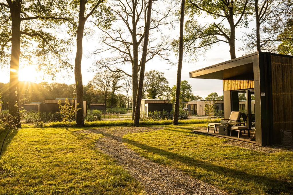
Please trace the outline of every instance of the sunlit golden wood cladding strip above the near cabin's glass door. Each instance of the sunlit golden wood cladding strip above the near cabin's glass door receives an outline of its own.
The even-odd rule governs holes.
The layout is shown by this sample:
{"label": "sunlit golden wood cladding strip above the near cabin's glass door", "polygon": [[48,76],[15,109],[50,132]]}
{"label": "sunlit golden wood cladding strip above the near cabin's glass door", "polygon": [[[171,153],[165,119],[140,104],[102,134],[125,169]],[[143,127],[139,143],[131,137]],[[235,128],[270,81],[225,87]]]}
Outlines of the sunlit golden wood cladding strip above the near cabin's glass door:
{"label": "sunlit golden wood cladding strip above the near cabin's glass door", "polygon": [[252,80],[223,80],[223,91],[254,88]]}

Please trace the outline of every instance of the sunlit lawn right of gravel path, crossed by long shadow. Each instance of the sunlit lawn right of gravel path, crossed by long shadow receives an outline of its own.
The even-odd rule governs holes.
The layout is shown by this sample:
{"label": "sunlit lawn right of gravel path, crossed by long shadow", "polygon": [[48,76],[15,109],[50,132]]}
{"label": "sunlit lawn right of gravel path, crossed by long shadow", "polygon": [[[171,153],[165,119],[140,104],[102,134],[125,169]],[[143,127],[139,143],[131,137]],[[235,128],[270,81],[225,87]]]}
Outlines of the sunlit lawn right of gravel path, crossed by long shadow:
{"label": "sunlit lawn right of gravel path, crossed by long shadow", "polygon": [[[266,153],[225,144],[191,132],[189,124],[127,134],[127,146],[231,194],[293,194],[293,152]],[[204,124],[205,126],[205,124]]]}

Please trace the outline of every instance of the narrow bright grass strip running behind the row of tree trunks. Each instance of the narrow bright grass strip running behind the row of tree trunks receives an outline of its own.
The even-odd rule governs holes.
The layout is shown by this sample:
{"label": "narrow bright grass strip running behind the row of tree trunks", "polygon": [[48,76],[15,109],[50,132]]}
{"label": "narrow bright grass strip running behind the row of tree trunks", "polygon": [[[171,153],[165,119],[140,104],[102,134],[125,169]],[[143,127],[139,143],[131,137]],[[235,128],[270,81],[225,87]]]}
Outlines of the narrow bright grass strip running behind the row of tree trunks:
{"label": "narrow bright grass strip running behind the row of tree trunks", "polygon": [[[219,122],[219,119],[214,119],[211,122]],[[179,120],[178,123],[180,125],[183,124],[202,124],[207,123],[207,120],[202,119],[189,119],[189,120]],[[75,126],[75,122],[71,123],[72,126]],[[84,122],[86,127],[109,127],[109,126],[132,126],[133,120],[100,120],[100,121],[93,121],[93,122]],[[149,125],[171,125],[172,120],[145,120],[140,121],[140,125],[142,126],[149,126]],[[22,124],[22,128],[32,128],[33,125]],[[46,123],[45,127],[64,127],[62,122],[50,122]]]}

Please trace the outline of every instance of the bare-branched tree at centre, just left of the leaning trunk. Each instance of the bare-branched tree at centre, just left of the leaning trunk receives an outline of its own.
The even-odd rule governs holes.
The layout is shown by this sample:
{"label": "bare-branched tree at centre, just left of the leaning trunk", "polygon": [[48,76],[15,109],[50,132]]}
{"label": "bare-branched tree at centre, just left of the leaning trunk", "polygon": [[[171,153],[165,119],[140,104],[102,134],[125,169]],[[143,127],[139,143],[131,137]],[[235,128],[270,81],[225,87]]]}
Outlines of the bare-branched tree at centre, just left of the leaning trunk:
{"label": "bare-branched tree at centre, just left of the leaning trunk", "polygon": [[[172,1],[170,1],[172,2]],[[114,0],[111,6],[111,12],[115,16],[115,26],[109,30],[102,30],[102,43],[105,48],[97,49],[94,54],[103,52],[111,52],[113,57],[105,58],[97,61],[97,68],[107,67],[114,72],[123,73],[132,77],[132,101],[136,103],[138,75],[141,67],[139,56],[142,55],[142,44],[145,35],[146,15],[147,15],[147,0]],[[154,15],[151,20],[150,30],[161,32],[161,38],[158,34],[150,34],[149,46],[147,49],[146,62],[151,61],[158,56],[159,58],[172,63],[169,58],[170,40],[164,36],[161,27],[172,28],[176,18],[173,14],[173,5],[168,1],[157,1],[154,6]],[[164,6],[165,9],[161,9]],[[167,37],[167,38],[166,38]],[[131,65],[131,73],[127,73],[124,69],[127,65]],[[134,117],[134,108],[132,107],[132,118]]]}

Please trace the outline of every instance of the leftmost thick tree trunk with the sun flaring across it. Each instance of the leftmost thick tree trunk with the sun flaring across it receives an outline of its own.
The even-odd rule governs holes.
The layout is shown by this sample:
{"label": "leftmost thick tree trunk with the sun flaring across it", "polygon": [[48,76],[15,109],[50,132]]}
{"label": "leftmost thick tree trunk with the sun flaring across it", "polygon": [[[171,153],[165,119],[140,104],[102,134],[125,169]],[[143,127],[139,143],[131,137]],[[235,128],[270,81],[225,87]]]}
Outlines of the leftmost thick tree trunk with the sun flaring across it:
{"label": "leftmost thick tree trunk with the sun flaring across it", "polygon": [[11,13],[11,60],[10,60],[10,78],[9,78],[9,114],[13,118],[16,127],[21,127],[19,114],[19,56],[21,44],[21,2],[13,1],[9,4]]}

